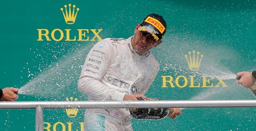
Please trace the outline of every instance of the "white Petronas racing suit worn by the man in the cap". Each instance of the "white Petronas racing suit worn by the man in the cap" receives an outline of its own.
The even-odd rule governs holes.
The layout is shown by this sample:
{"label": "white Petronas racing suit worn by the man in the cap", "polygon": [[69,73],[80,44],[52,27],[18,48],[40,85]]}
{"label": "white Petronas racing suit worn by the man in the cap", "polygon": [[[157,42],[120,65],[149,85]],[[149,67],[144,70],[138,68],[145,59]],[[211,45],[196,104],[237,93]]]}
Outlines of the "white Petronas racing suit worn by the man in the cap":
{"label": "white Petronas racing suit worn by the man in the cap", "polygon": [[[78,81],[88,101],[123,101],[125,94],[145,94],[156,78],[155,57],[138,55],[128,39],[107,38],[88,53]],[[128,108],[86,109],[84,129],[129,131],[132,116]]]}

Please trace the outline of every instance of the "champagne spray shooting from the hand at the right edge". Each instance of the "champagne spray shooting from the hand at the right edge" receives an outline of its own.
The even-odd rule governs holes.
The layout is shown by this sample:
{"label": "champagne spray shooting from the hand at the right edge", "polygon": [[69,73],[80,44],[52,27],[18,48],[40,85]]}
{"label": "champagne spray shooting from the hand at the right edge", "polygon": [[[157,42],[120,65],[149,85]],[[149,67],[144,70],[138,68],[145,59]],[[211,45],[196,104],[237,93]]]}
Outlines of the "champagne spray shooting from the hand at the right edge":
{"label": "champagne spray shooting from the hand at the right edge", "polygon": [[[182,34],[171,34],[170,37],[165,37],[170,41],[167,44],[160,44],[159,47],[161,49],[157,52],[157,54],[161,54],[158,59],[163,65],[161,69],[164,72],[163,75],[174,77],[180,75],[195,76],[197,78],[207,76],[208,78],[212,77],[213,80],[223,79],[228,86],[200,88],[200,92],[196,94],[191,95],[188,93],[188,95],[191,95],[189,99],[192,100],[255,99],[248,89],[244,89],[236,83],[234,71],[237,69],[232,67],[237,67],[233,65],[240,65],[239,60],[243,59],[237,54],[237,51],[221,41],[199,37],[199,35],[189,36]],[[189,70],[188,62],[185,58],[185,55],[188,55],[188,52],[193,50],[200,52],[200,55],[204,55],[198,71]],[[163,52],[166,53],[163,54]],[[161,59],[161,57],[167,59]],[[195,83],[201,81],[199,80]],[[178,95],[175,99],[183,99],[183,96]]]}

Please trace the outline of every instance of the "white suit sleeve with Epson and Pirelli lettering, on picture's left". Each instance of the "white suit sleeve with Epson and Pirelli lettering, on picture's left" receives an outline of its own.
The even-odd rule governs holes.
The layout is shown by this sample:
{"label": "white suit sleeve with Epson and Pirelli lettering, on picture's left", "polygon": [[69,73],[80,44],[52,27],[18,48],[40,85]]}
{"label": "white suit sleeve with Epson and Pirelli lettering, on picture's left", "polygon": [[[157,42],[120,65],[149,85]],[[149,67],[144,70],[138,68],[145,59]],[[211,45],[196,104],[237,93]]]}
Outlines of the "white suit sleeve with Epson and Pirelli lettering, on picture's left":
{"label": "white suit sleeve with Epson and Pirelli lettering, on picture's left", "polygon": [[88,53],[78,80],[78,90],[92,100],[123,101],[125,93],[101,82],[113,59],[113,48],[107,40],[101,40]]}

